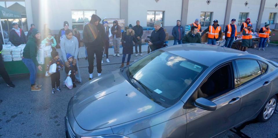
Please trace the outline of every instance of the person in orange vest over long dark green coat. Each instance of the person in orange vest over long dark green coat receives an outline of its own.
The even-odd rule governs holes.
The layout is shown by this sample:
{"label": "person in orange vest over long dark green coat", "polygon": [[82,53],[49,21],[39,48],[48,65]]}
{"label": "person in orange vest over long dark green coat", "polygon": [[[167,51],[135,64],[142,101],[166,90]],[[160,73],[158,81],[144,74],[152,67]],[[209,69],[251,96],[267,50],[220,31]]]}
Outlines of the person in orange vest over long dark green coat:
{"label": "person in orange vest over long dark green coat", "polygon": [[251,24],[248,24],[247,27],[245,27],[242,30],[242,44],[241,44],[241,48],[240,48],[241,51],[246,51],[247,47],[251,47],[252,32],[254,33],[254,30],[253,30]]}

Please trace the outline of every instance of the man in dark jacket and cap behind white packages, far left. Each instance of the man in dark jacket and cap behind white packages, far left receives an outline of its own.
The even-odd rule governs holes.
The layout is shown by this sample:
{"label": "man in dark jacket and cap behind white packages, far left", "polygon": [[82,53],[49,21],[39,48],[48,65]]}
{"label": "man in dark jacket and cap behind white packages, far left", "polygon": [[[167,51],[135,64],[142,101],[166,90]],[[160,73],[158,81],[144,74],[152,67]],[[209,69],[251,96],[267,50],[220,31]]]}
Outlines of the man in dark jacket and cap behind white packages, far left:
{"label": "man in dark jacket and cap behind white packages, far left", "polygon": [[27,43],[25,34],[23,30],[18,27],[17,23],[12,23],[12,31],[10,32],[9,41],[16,47]]}

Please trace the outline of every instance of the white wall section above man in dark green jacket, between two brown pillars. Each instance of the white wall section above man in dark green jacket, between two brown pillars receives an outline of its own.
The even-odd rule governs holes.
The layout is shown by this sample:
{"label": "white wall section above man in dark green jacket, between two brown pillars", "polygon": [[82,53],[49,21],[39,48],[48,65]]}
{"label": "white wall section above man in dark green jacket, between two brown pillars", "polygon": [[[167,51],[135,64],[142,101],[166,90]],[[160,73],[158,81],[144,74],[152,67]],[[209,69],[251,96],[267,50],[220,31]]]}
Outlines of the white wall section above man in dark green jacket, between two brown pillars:
{"label": "white wall section above man in dark green jacket, between two brown pillars", "polygon": [[223,25],[226,12],[226,0],[213,0],[208,5],[206,0],[189,0],[187,23],[191,24],[195,19],[200,19],[201,12],[213,12],[211,22],[218,20]]}

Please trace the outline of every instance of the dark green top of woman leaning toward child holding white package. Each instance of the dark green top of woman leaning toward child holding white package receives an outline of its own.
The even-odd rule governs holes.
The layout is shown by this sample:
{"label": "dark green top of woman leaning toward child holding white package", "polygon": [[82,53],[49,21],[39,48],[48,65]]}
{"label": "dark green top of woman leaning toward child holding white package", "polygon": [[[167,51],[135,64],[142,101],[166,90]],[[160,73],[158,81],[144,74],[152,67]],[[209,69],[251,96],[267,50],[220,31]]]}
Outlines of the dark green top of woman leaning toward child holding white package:
{"label": "dark green top of woman leaning toward child holding white package", "polygon": [[37,53],[38,53],[38,46],[36,44],[36,38],[34,38],[33,36],[29,36],[28,42],[25,48],[23,49],[23,57],[32,59],[34,64],[36,66],[39,66],[39,63],[36,59]]}

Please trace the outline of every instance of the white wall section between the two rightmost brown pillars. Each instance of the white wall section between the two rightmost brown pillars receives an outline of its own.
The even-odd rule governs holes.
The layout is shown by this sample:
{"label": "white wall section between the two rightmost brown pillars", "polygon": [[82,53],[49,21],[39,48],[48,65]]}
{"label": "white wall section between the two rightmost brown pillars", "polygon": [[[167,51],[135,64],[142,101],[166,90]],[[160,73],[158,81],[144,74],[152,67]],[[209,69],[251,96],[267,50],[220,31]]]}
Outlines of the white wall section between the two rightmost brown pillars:
{"label": "white wall section between the two rightmost brown pillars", "polygon": [[[243,0],[233,0],[232,1],[232,8],[231,8],[231,19],[236,19],[238,21],[239,19],[239,13],[240,12],[248,12],[251,23],[253,24],[253,27],[256,27],[258,16],[259,16],[259,9],[261,5],[261,0],[247,0],[248,5],[245,6],[244,3],[246,1]],[[230,19],[230,21],[231,21]],[[237,24],[238,22],[236,22]],[[240,25],[241,26],[241,25]],[[237,30],[240,30],[240,26],[237,26]]]}

